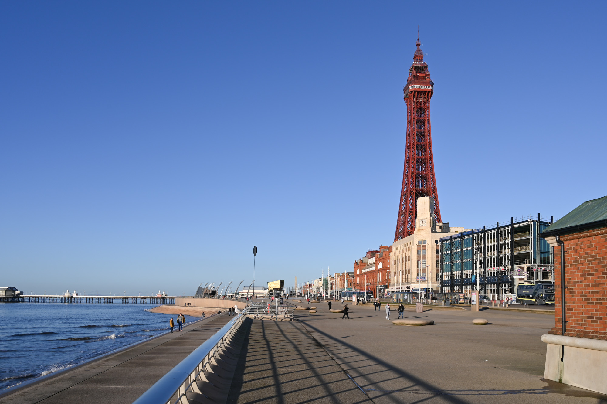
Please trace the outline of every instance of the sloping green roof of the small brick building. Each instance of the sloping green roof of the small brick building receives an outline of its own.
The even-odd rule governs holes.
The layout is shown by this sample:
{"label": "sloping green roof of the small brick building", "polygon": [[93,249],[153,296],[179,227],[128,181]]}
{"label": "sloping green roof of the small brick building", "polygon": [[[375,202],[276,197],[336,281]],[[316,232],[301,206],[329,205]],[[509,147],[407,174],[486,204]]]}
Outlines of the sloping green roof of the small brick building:
{"label": "sloping green roof of the small brick building", "polygon": [[599,227],[607,227],[607,196],[584,202],[547,227],[541,235],[564,235]]}

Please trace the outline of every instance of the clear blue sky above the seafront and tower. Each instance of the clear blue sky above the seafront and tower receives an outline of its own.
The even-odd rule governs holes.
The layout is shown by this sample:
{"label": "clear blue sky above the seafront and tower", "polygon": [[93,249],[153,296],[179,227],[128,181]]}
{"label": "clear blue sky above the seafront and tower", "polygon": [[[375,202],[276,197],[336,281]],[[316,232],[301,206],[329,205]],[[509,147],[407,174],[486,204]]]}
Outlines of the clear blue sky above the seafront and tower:
{"label": "clear blue sky above the seafront and tower", "polygon": [[0,269],[192,294],[392,243],[417,26],[444,221],[607,195],[605,2],[2,2]]}

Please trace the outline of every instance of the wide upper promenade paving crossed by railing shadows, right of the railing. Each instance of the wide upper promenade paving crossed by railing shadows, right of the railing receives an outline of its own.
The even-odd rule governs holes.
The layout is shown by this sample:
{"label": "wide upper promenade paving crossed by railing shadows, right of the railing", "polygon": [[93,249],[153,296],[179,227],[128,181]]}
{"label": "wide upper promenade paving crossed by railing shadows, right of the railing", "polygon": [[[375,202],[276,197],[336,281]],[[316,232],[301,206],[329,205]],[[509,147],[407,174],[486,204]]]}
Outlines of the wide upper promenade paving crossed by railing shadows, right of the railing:
{"label": "wide upper promenade paving crossed by railing shadows, right of the railing", "polygon": [[[435,321],[407,327],[386,320],[383,306],[354,306],[342,320],[327,303],[314,305],[316,314],[296,312],[301,322],[253,322],[229,403],[607,402],[542,379],[540,336],[554,326],[551,315],[407,311]],[[473,325],[478,317],[489,325]]]}

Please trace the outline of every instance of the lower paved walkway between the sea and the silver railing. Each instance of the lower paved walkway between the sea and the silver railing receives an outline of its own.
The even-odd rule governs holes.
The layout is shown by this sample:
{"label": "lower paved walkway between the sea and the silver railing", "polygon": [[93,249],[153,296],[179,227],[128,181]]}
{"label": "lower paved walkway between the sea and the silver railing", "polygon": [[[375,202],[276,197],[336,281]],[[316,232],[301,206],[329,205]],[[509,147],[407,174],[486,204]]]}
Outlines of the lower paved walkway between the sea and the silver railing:
{"label": "lower paved walkway between the sea and the silver railing", "polygon": [[183,332],[161,335],[2,396],[0,403],[130,404],[232,318],[222,314],[186,325]]}

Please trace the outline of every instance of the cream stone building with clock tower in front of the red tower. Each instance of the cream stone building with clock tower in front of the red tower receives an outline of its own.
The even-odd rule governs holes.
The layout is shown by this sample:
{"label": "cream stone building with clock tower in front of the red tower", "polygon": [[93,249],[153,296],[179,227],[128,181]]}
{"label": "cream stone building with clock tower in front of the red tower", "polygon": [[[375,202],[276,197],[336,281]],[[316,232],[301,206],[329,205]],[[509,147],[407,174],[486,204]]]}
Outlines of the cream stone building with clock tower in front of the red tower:
{"label": "cream stone building with clock tower in front of the red tower", "polygon": [[[450,227],[449,223],[435,223],[434,199],[418,198],[415,232],[396,240],[390,253],[390,293],[417,291],[418,287],[441,288],[438,240],[447,235],[466,231],[464,227]],[[421,281],[418,281],[418,277]]]}

